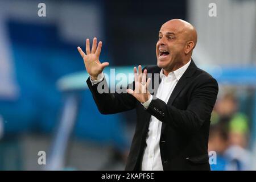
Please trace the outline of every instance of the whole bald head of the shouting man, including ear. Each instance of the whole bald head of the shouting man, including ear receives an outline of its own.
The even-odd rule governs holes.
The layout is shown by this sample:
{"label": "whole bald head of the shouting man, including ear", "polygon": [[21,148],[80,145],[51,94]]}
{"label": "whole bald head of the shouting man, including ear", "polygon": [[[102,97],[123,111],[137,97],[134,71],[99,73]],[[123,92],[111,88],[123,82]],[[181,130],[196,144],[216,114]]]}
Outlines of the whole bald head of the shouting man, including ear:
{"label": "whole bald head of the shouting man, including ear", "polygon": [[196,29],[181,19],[172,19],[164,23],[159,31],[156,43],[158,67],[171,72],[186,64],[197,42]]}

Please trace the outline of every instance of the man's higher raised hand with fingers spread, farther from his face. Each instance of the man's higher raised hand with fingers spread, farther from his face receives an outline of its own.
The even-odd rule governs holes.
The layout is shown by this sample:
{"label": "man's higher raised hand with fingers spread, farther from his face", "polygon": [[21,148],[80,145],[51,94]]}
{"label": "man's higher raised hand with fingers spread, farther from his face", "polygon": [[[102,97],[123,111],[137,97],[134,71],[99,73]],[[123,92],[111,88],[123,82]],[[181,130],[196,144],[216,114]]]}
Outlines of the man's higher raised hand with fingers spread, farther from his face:
{"label": "man's higher raised hand with fingers spread, farther from his face", "polygon": [[86,71],[92,78],[92,80],[97,80],[98,75],[103,71],[105,67],[109,65],[108,62],[101,63],[100,53],[101,53],[102,42],[100,41],[97,46],[97,38],[93,38],[92,51],[90,51],[90,40],[86,39],[86,55],[80,47],[77,47],[82,59],[84,59],[84,65]]}

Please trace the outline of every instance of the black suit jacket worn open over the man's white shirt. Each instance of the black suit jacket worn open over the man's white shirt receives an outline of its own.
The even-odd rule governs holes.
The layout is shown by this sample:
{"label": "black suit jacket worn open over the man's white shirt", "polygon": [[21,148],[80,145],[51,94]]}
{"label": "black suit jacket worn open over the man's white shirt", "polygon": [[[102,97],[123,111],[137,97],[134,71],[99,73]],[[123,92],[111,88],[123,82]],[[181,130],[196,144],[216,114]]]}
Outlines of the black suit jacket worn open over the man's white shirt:
{"label": "black suit jacket worn open over the man's white shirt", "polygon": [[[161,70],[157,66],[146,69],[147,73],[156,74]],[[159,147],[164,170],[210,170],[209,126],[218,84],[207,72],[197,68],[193,60],[177,82],[167,104],[155,98],[147,110],[128,93],[100,94],[97,92],[98,84],[92,86],[89,78],[86,82],[102,114],[134,108],[137,111],[137,124],[126,170],[141,169],[151,115],[163,122]],[[151,82],[154,84],[154,77]]]}

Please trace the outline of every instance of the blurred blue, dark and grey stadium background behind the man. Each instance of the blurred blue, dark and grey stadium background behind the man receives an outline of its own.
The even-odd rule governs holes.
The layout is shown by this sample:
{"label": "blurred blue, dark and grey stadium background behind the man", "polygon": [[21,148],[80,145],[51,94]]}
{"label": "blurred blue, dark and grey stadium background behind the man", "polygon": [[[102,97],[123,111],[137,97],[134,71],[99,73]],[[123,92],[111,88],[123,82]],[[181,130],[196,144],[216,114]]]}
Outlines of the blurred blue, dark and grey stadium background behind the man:
{"label": "blurred blue, dark and grey stadium background behind the man", "polygon": [[256,169],[256,1],[43,1],[39,17],[40,2],[0,1],[0,170],[124,169],[134,111],[99,113],[76,48],[95,36],[112,67],[152,65],[159,28],[173,18],[196,27],[192,57],[220,86],[211,168]]}

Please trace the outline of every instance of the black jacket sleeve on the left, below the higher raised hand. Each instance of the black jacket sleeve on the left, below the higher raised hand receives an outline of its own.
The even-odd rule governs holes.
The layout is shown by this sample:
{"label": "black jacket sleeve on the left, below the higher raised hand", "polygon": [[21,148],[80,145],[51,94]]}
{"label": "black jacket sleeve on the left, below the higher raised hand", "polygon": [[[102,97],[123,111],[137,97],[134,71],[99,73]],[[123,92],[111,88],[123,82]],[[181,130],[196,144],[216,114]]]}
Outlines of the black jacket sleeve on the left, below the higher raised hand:
{"label": "black jacket sleeve on the left, below the higher raised hand", "polygon": [[[114,114],[135,108],[135,97],[128,93],[110,93],[105,78],[95,85],[92,85],[90,78],[88,78],[86,82],[101,114]],[[134,82],[131,84],[134,86]],[[131,86],[131,84],[128,85],[127,88]],[[99,93],[99,89],[104,90],[104,92]],[[126,88],[121,89],[126,90]]]}

